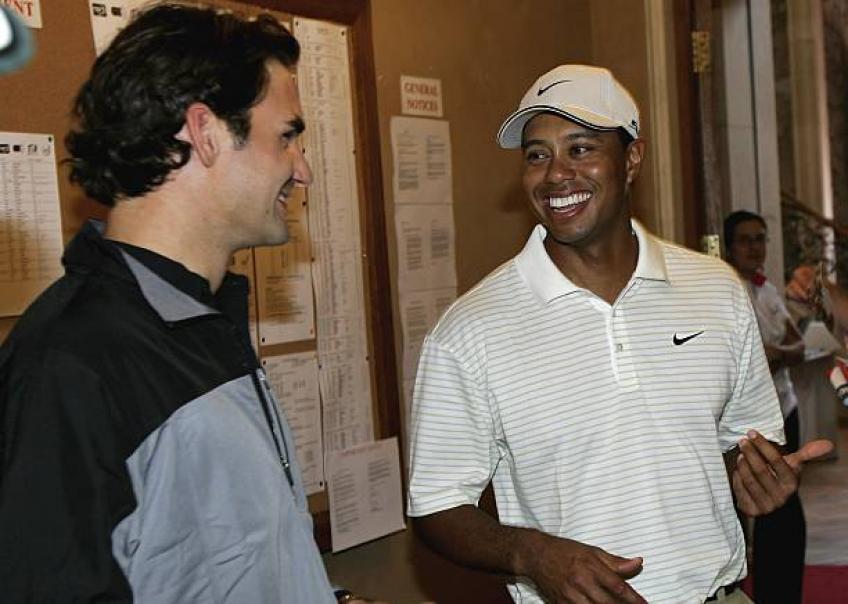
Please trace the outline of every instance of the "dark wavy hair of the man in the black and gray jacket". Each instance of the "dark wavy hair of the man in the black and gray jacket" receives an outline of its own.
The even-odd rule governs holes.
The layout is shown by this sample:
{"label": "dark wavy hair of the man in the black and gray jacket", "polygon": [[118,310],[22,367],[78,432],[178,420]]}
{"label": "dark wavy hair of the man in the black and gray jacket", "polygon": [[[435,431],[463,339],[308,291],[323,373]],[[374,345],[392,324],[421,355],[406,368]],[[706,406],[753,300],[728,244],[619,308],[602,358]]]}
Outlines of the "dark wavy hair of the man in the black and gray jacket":
{"label": "dark wavy hair of the man in the black and gray jacket", "polygon": [[65,138],[71,181],[115,205],[160,186],[184,166],[191,145],[176,134],[186,109],[208,105],[236,144],[250,131],[250,109],[268,85],[266,62],[293,68],[300,46],[270,15],[179,4],[142,12],[97,59],[74,101]]}

